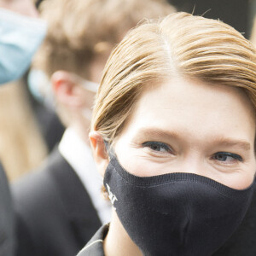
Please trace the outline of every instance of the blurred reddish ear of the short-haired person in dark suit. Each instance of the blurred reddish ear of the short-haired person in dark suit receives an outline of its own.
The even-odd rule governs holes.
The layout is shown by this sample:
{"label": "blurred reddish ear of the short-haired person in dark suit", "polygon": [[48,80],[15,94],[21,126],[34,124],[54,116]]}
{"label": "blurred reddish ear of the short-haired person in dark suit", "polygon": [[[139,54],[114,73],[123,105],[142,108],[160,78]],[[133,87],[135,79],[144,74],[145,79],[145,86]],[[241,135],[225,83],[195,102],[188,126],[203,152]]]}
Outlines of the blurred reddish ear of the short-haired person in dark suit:
{"label": "blurred reddish ear of the short-haired person in dark suit", "polygon": [[57,71],[51,76],[51,84],[57,102],[68,108],[83,107],[83,89],[73,73]]}

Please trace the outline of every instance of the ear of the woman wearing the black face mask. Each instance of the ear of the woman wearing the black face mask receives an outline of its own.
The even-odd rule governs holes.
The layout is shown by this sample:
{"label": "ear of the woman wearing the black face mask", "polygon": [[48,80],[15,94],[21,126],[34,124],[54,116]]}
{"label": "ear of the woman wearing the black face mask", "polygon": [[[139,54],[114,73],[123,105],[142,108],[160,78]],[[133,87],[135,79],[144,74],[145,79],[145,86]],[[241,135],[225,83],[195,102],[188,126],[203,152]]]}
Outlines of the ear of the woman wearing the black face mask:
{"label": "ear of the woman wearing the black face mask", "polygon": [[108,152],[105,147],[105,143],[98,131],[90,131],[89,138],[97,170],[103,177],[109,163]]}

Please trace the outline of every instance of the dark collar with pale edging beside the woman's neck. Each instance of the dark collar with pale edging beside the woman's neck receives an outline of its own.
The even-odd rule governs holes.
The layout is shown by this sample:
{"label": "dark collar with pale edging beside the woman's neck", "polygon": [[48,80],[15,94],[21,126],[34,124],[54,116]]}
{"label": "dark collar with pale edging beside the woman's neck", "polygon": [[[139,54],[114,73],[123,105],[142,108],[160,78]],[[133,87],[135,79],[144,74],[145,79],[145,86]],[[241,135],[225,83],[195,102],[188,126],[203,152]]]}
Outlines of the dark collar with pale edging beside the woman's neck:
{"label": "dark collar with pale edging beside the woman's neck", "polygon": [[104,256],[103,241],[108,234],[108,224],[103,225],[77,256]]}

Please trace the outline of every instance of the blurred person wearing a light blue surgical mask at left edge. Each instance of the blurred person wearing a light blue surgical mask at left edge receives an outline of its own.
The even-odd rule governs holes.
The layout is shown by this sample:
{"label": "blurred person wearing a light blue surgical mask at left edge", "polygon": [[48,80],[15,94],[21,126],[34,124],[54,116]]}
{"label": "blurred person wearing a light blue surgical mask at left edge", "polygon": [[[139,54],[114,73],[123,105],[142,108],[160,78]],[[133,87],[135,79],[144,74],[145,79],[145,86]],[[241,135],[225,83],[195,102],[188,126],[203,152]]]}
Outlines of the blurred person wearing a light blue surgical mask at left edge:
{"label": "blurred person wearing a light blue surgical mask at left edge", "polygon": [[[0,85],[19,79],[29,66],[46,32],[45,23],[37,18],[38,12],[30,0],[0,1]],[[9,100],[15,104],[15,99]],[[3,119],[1,124],[3,126]],[[9,183],[1,164],[0,209],[0,256],[12,256],[15,252],[15,218]]]}

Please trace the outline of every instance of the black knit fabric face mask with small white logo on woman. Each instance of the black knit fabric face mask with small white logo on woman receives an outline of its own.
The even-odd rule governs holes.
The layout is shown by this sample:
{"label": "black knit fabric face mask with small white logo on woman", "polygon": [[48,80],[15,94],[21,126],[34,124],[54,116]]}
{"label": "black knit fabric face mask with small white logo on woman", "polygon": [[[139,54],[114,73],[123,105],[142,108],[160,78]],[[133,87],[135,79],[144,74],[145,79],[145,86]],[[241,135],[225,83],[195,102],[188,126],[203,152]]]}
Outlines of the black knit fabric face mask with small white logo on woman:
{"label": "black knit fabric face mask with small white logo on woman", "polygon": [[137,177],[114,156],[104,185],[145,256],[212,255],[241,223],[253,193],[253,185],[230,189],[192,173]]}

